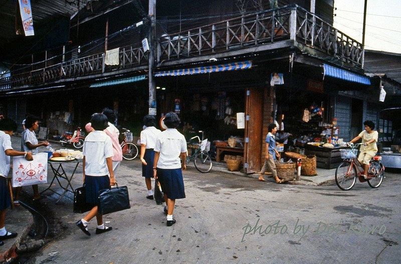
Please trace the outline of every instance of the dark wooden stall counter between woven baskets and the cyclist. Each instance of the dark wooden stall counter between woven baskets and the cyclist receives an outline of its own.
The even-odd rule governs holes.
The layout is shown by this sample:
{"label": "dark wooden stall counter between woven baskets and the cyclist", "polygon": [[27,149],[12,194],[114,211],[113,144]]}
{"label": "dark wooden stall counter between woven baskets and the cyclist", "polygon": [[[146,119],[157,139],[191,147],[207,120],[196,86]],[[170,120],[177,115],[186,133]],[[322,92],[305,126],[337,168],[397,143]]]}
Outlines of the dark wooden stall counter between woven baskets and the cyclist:
{"label": "dark wooden stall counter between woven baskets and the cyclist", "polygon": [[318,146],[305,146],[305,155],[316,155],[316,167],[322,169],[334,169],[343,161],[341,159],[341,149],[338,148],[323,148]]}

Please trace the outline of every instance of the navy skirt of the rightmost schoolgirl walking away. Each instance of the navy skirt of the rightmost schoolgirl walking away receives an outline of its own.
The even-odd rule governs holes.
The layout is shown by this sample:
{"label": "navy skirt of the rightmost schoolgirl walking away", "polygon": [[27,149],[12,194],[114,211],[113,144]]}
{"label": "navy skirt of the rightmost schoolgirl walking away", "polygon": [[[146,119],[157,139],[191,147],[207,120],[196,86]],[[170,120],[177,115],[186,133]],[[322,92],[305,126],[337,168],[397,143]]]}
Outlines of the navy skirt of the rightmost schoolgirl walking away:
{"label": "navy skirt of the rightmost schoolgirl walking away", "polygon": [[184,180],[182,171],[179,169],[160,169],[157,168],[157,178],[160,182],[161,190],[169,199],[185,198]]}

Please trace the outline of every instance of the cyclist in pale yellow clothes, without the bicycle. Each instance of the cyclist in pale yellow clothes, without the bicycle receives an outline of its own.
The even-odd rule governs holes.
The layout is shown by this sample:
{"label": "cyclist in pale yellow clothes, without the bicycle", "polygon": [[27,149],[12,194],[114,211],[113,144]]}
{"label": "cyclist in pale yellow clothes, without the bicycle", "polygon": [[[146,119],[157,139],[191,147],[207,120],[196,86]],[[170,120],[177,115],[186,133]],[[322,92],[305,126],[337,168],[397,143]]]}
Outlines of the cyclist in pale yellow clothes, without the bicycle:
{"label": "cyclist in pale yellow clothes, without the bicycle", "polygon": [[359,149],[358,161],[362,164],[363,174],[360,175],[364,179],[367,179],[367,171],[369,169],[369,161],[376,155],[377,153],[377,139],[378,133],[377,131],[373,131],[374,123],[372,121],[364,121],[365,130],[359,133],[353,140],[349,142],[349,144],[354,143],[360,139],[362,139],[362,144]]}

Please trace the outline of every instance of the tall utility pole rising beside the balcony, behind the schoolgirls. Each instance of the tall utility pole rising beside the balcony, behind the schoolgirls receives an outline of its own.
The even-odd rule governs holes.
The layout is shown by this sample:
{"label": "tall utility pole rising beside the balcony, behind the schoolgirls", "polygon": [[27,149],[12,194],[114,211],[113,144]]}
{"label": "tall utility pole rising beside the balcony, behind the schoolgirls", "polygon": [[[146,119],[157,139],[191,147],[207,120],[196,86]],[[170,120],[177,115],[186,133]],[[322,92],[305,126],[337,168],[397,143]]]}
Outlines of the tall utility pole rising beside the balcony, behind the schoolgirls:
{"label": "tall utility pole rising beside the balcony, behind the schoolgirls", "polygon": [[156,84],[154,81],[154,27],[156,22],[156,0],[149,0],[150,28],[147,39],[149,43],[149,114],[156,115]]}

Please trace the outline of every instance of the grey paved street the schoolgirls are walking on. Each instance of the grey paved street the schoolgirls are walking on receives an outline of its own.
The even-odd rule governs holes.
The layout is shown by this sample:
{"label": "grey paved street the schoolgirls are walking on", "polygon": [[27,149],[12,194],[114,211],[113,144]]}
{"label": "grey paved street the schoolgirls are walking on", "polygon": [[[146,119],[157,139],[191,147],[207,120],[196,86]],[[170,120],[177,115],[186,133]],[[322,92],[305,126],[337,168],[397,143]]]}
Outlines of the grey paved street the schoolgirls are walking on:
{"label": "grey paved street the schoolgirls are walking on", "polygon": [[[82,184],[82,165],[74,187]],[[75,226],[72,201],[41,201],[64,232],[32,263],[396,263],[401,259],[401,180],[386,173],[371,189],[259,182],[224,173],[184,172],[186,198],[176,201],[171,227],[161,205],[145,198],[138,160],[117,175],[130,190],[131,209],[104,216],[113,231],[91,237]],[[40,186],[45,189],[47,186]],[[32,191],[30,188],[25,188]],[[69,195],[71,197],[71,195]]]}

